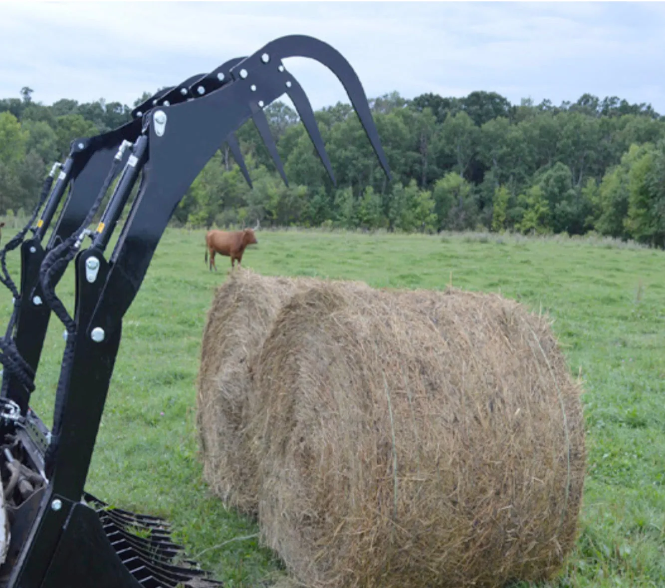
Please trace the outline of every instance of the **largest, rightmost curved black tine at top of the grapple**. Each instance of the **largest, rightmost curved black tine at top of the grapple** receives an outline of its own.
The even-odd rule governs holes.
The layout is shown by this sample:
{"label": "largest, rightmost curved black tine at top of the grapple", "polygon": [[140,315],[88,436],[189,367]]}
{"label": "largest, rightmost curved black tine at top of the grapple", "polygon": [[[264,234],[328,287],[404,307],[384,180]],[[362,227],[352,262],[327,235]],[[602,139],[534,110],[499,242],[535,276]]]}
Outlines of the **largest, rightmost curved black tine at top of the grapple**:
{"label": "largest, rightmost curved black tine at top of the grapple", "polygon": [[251,73],[251,71],[260,67],[278,67],[279,60],[288,59],[289,57],[315,59],[325,65],[342,82],[346,94],[356,114],[358,114],[360,124],[364,128],[388,180],[391,180],[388,159],[381,147],[378,131],[362,84],[348,61],[327,43],[307,35],[280,37],[231,68],[231,75],[237,79],[240,78],[239,74],[242,70],[245,70],[245,73]]}

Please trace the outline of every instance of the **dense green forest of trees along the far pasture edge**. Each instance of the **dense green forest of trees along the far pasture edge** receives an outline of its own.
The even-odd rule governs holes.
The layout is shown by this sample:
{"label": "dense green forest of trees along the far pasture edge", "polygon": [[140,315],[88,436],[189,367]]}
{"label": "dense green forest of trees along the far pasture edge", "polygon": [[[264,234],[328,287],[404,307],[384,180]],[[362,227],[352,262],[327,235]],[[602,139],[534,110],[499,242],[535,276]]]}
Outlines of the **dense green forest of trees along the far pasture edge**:
{"label": "dense green forest of trees along the far pasture edge", "polygon": [[[0,214],[31,212],[44,174],[70,141],[130,120],[120,102],[45,106],[25,87],[0,100]],[[650,104],[584,94],[511,104],[495,92],[464,98],[398,92],[370,100],[388,156],[384,176],[358,117],[338,102],[315,115],[332,185],[293,108],[265,108],[289,187],[249,121],[237,132],[253,189],[227,146],[184,196],[174,223],[193,227],[343,227],[584,234],[665,246],[665,116]]]}

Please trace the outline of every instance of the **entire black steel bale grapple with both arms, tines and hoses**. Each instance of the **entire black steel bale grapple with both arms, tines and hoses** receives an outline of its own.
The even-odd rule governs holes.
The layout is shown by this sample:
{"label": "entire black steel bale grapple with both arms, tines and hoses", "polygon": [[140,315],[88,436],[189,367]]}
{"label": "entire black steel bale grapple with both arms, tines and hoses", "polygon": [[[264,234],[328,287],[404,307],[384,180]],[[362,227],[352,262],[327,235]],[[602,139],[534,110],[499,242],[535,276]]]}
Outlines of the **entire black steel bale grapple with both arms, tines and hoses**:
{"label": "entire black steel bale grapple with both arms, tines and hoses", "polygon": [[[176,207],[217,149],[229,146],[251,185],[234,132],[252,119],[286,182],[263,108],[287,94],[334,183],[311,104],[283,66],[288,57],[315,59],[336,74],[390,179],[364,90],[348,62],[312,37],[282,37],[160,90],[115,130],[74,139],[66,161],[46,178],[33,218],[0,251],[0,281],[14,301],[0,339],[0,588],[220,585],[186,559],[166,521],[111,508],[84,486],[122,319]],[[88,228],[109,191],[96,227]],[[5,255],[19,246],[17,287]],[[70,316],[55,287],[72,260]],[[65,325],[65,352],[49,430],[30,398],[52,312]]]}

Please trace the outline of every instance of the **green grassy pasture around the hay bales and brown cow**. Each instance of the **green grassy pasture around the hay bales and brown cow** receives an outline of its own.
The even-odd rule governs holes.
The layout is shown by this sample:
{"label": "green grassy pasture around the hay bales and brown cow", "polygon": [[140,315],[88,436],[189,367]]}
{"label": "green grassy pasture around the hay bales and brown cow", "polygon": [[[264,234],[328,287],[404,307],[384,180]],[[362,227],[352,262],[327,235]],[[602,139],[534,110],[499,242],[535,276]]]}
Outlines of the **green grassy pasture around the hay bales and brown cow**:
{"label": "green grassy pasture around the hay bales and brown cow", "polygon": [[[3,243],[14,231],[3,232]],[[196,444],[201,333],[217,285],[203,230],[168,229],[123,327],[87,488],[163,515],[226,586],[270,585],[281,567],[257,526],[207,493]],[[665,252],[574,239],[260,231],[246,267],[374,287],[501,291],[547,311],[585,387],[587,468],[577,549],[557,587],[665,586]],[[620,243],[618,244],[620,245]],[[18,279],[17,253],[9,255]],[[72,272],[58,289],[71,309]],[[3,320],[11,295],[0,295]],[[4,323],[3,323],[4,324]],[[64,349],[52,317],[33,407],[49,422]],[[50,424],[50,423],[49,423]]]}

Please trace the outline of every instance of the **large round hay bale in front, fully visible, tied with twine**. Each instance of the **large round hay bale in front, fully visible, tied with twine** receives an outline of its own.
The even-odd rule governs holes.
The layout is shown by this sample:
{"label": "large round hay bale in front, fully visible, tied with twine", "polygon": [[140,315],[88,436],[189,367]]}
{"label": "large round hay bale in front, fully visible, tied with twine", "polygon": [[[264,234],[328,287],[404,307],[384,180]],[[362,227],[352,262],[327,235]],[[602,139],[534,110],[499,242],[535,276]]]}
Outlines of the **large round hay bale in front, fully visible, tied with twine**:
{"label": "large round hay bale in front, fully visible, tied with twine", "polygon": [[315,285],[255,363],[263,540],[316,587],[499,587],[575,541],[579,384],[497,295]]}

